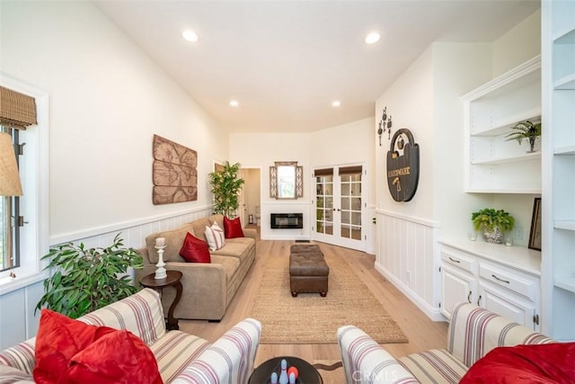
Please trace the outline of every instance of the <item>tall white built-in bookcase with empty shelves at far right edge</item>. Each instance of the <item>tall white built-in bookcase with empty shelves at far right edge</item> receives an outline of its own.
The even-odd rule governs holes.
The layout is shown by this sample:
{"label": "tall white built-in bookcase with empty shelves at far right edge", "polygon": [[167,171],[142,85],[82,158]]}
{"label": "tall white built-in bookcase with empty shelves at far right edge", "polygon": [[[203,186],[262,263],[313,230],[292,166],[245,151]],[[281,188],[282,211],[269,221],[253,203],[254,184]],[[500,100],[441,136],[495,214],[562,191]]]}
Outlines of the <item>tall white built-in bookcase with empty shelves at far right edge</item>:
{"label": "tall white built-in bookcase with empty shelves at far right edge", "polygon": [[575,1],[541,8],[543,330],[575,340]]}

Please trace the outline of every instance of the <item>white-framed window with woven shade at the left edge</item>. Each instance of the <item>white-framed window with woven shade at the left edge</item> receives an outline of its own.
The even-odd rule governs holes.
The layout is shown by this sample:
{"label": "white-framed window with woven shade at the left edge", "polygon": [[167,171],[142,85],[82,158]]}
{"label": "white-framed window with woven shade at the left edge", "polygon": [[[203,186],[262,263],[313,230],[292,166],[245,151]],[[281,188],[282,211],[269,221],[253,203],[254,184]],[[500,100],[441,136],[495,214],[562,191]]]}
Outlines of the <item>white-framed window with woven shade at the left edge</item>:
{"label": "white-framed window with woven shade at the left edge", "polygon": [[[18,156],[22,196],[0,196],[0,242],[3,247],[0,251],[0,295],[3,295],[46,277],[40,257],[49,251],[49,97],[46,92],[1,72],[0,92],[0,126],[5,132],[10,131],[13,139],[23,145],[23,155]],[[25,117],[21,120],[6,117],[6,111],[9,113],[13,107],[7,102],[13,93],[19,94],[18,97],[24,101],[34,101],[37,123],[26,121]],[[22,129],[26,126],[26,129]],[[23,226],[13,231],[12,218],[18,216],[22,216]],[[16,250],[19,258],[8,256],[5,247],[9,247],[10,251]],[[11,276],[11,272],[15,277]]]}

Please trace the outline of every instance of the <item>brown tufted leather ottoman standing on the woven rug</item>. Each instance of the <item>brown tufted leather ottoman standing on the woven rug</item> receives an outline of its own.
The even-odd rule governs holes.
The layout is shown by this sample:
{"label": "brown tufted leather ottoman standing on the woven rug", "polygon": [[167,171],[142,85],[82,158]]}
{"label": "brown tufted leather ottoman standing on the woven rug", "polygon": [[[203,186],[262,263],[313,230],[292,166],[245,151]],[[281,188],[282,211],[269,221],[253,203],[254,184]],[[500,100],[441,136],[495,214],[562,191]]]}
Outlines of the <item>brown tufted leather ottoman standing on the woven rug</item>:
{"label": "brown tufted leather ottoman standing on the woven rug", "polygon": [[322,251],[315,245],[294,245],[289,253],[289,289],[295,298],[298,293],[327,295],[330,268]]}

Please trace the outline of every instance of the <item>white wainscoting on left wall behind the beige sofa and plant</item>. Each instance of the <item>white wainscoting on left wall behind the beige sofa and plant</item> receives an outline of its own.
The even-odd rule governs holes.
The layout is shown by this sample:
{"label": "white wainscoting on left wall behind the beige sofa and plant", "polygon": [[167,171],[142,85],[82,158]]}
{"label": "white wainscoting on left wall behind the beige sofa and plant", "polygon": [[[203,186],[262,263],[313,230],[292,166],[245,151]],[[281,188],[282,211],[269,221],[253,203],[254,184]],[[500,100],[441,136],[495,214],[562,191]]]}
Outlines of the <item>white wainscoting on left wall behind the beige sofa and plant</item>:
{"label": "white wainscoting on left wall behind the beige sofa and plant", "polygon": [[[121,232],[124,246],[141,248],[145,246],[146,236],[149,234],[179,228],[195,219],[210,216],[211,213],[212,206],[209,205],[114,224],[109,227],[92,228],[50,237],[50,246],[67,242],[75,244],[82,242],[89,247],[109,246],[112,239]],[[36,335],[40,312],[35,316],[34,308],[43,294],[44,287],[40,281],[0,296],[0,351]]]}

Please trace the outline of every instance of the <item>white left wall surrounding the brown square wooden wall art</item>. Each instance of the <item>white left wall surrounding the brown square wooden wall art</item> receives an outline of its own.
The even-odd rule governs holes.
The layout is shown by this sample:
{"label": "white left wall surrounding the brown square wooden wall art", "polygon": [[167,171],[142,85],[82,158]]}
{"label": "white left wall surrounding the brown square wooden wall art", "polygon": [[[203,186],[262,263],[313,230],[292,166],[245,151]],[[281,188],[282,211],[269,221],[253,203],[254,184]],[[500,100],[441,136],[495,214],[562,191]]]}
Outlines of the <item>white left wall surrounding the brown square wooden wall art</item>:
{"label": "white left wall surrounding the brown square wooden wall art", "polygon": [[[108,246],[121,231],[139,247],[211,212],[226,130],[92,3],[3,1],[0,32],[0,71],[49,94],[52,245]],[[198,151],[198,201],[152,204],[154,134]],[[40,282],[0,296],[0,350],[35,335],[42,293]]]}

